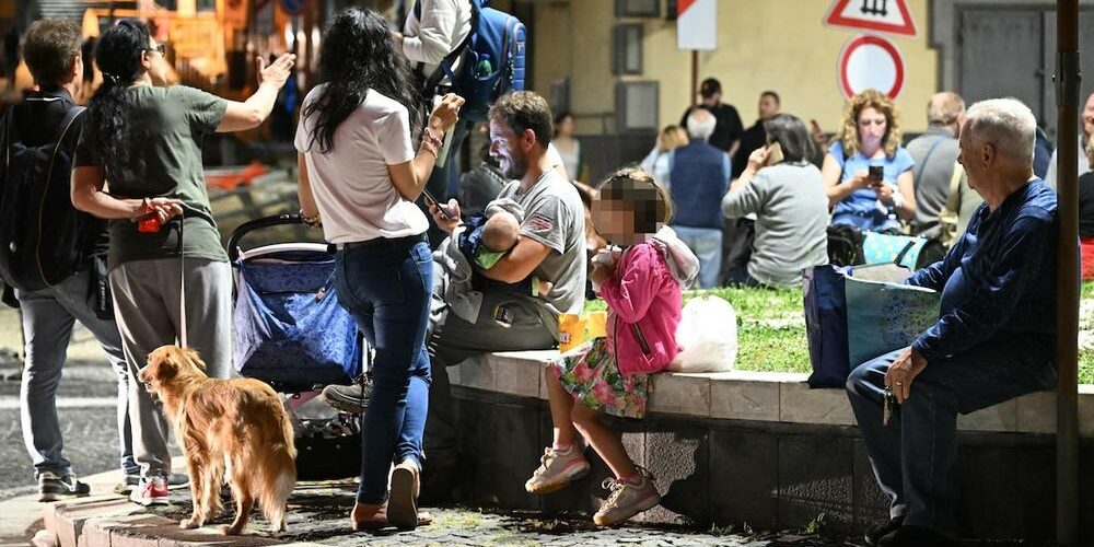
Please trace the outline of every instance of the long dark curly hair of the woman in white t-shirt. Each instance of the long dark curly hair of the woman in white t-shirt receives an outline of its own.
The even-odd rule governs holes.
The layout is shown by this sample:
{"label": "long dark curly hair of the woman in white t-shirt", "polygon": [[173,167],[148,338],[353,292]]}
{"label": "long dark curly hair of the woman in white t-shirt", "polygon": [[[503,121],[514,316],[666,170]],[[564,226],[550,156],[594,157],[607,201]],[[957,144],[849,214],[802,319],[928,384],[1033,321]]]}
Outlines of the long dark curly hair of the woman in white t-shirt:
{"label": "long dark curly hair of the woman in white t-shirt", "polygon": [[387,22],[375,11],[349,8],[327,26],[319,50],[319,74],[326,86],[304,107],[315,116],[307,146],[318,142],[321,153],[335,148],[335,131],[357,109],[370,89],[410,113],[411,138],[417,140],[424,117],[419,108],[416,81],[396,54]]}

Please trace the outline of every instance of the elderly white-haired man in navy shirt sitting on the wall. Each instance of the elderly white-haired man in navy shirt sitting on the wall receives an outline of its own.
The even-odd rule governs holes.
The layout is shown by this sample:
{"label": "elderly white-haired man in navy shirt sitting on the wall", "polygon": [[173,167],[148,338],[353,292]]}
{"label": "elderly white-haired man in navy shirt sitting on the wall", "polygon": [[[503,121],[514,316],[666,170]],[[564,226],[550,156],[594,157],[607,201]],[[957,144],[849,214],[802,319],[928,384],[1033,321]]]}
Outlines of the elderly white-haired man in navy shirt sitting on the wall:
{"label": "elderly white-haired man in navy shirt sitting on the wall", "polygon": [[968,109],[959,161],[985,203],[945,258],[907,283],[942,292],[908,348],[857,368],[847,389],[892,521],[870,545],[948,545],[957,414],[1056,383],[1056,194],[1033,174],[1037,123],[1012,98]]}

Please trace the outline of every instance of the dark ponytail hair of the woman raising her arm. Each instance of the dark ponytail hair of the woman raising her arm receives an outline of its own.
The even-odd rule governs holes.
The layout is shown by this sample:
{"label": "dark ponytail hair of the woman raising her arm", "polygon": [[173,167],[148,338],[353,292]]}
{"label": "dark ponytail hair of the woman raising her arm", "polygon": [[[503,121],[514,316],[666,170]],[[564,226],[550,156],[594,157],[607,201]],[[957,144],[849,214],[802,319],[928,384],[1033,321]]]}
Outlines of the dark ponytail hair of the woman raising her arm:
{"label": "dark ponytail hair of the woman raising her arm", "polygon": [[150,34],[140,21],[121,20],[108,28],[95,45],[95,63],[103,84],[88,104],[88,139],[95,155],[103,159],[107,177],[117,176],[129,161],[130,97],[126,91],[141,72],[141,54]]}

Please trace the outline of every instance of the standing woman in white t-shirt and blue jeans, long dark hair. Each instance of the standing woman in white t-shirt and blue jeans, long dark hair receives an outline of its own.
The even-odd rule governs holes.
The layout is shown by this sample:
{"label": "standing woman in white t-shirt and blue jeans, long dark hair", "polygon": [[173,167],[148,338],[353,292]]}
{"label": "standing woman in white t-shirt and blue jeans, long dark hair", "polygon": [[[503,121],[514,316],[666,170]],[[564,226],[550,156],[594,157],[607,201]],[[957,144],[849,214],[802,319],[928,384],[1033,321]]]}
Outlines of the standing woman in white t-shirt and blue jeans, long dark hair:
{"label": "standing woman in white t-shirt and blue jeans, long dark hair", "polygon": [[[319,54],[325,83],[307,94],[296,128],[301,214],[310,225],[322,224],[325,238],[337,246],[338,301],[376,350],[353,529],[418,524],[433,261],[424,237],[429,223],[414,201],[463,104],[446,95],[415,152],[421,115],[414,79],[400,59],[376,12],[339,13]],[[325,399],[338,407],[337,391],[328,392]]]}

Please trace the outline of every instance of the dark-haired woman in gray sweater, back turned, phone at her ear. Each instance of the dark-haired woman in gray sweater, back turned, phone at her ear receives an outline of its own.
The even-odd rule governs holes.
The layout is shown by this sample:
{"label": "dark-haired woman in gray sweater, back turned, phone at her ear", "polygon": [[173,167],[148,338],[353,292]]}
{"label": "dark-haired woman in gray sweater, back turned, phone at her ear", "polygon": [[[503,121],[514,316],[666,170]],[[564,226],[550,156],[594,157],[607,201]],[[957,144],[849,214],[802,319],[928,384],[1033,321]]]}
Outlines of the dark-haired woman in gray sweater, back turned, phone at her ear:
{"label": "dark-haired woman in gray sweater, back turned, phone at her ear", "polygon": [[764,123],[767,146],[748,156],[748,165],[722,198],[722,213],[756,213],[753,254],[744,267],[730,270],[737,286],[793,287],[802,270],[828,264],[828,207],[821,172],[810,163],[814,146],[805,124],[789,114]]}

